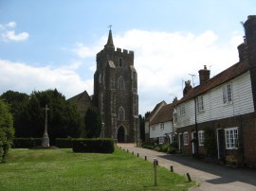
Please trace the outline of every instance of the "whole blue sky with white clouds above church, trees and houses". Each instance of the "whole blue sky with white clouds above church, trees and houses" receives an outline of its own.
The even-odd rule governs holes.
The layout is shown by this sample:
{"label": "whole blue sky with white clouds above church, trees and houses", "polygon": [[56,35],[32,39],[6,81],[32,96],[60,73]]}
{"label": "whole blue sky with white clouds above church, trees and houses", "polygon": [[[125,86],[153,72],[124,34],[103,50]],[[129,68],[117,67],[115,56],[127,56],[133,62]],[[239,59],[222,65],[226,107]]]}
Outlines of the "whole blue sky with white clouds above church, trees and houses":
{"label": "whole blue sky with white clouds above church, trees and houses", "polygon": [[96,54],[112,25],[114,44],[135,52],[139,113],[182,97],[239,61],[241,22],[255,0],[0,0],[0,95],[57,89],[93,95]]}

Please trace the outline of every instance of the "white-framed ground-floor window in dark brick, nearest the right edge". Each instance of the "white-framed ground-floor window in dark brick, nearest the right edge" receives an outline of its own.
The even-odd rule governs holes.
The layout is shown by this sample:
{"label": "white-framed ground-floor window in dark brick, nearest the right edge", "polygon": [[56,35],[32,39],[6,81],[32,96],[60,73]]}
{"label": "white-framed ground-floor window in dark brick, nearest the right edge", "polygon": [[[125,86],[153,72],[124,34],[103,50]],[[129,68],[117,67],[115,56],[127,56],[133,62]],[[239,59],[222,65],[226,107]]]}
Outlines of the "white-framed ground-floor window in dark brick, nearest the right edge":
{"label": "white-framed ground-floor window in dark brick, nearest the right edge", "polygon": [[238,148],[238,128],[229,128],[225,130],[226,149]]}

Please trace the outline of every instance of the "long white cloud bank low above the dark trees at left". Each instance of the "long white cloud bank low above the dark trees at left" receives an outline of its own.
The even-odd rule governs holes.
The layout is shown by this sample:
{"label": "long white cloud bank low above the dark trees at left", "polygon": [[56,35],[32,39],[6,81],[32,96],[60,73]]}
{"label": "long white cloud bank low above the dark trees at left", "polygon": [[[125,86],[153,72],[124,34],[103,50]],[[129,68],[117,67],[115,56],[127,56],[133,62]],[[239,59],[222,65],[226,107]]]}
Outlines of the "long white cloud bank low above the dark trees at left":
{"label": "long white cloud bank low above the dark trees at left", "polygon": [[54,88],[66,98],[76,96],[84,90],[92,94],[93,80],[82,80],[74,71],[77,65],[75,62],[60,68],[33,67],[27,63],[0,60],[0,94],[8,90],[30,94],[34,90]]}

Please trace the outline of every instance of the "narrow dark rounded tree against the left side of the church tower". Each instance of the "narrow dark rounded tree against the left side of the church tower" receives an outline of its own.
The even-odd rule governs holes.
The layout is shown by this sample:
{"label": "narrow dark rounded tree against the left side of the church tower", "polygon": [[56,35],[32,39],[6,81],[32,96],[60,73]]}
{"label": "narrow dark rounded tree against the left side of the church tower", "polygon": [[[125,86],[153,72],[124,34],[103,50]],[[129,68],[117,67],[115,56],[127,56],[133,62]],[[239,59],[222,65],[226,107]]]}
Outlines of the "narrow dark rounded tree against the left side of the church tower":
{"label": "narrow dark rounded tree against the left side of the church tower", "polygon": [[87,138],[96,138],[101,135],[101,116],[97,109],[89,108],[85,113],[85,136]]}

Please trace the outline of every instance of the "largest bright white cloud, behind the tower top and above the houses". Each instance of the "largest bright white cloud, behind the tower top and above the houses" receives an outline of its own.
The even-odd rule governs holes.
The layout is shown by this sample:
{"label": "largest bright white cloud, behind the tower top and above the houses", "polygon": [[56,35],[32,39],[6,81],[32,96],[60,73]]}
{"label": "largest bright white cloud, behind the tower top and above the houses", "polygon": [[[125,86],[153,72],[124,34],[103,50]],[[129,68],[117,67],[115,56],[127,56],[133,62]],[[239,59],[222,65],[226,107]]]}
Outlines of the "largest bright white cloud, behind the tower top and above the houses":
{"label": "largest bright white cloud, behind the tower top and above the houses", "polygon": [[[229,43],[218,42],[213,31],[199,35],[181,32],[155,32],[129,30],[123,35],[113,33],[116,47],[135,51],[135,67],[138,74],[139,113],[153,110],[155,104],[174,96],[182,96],[182,81],[191,79],[198,85],[198,70],[204,65],[215,76],[238,61],[236,46],[242,43],[242,35],[232,34]],[[79,43],[76,53],[82,57],[95,57],[106,43],[86,46]],[[172,95],[172,96],[170,96]]]}

